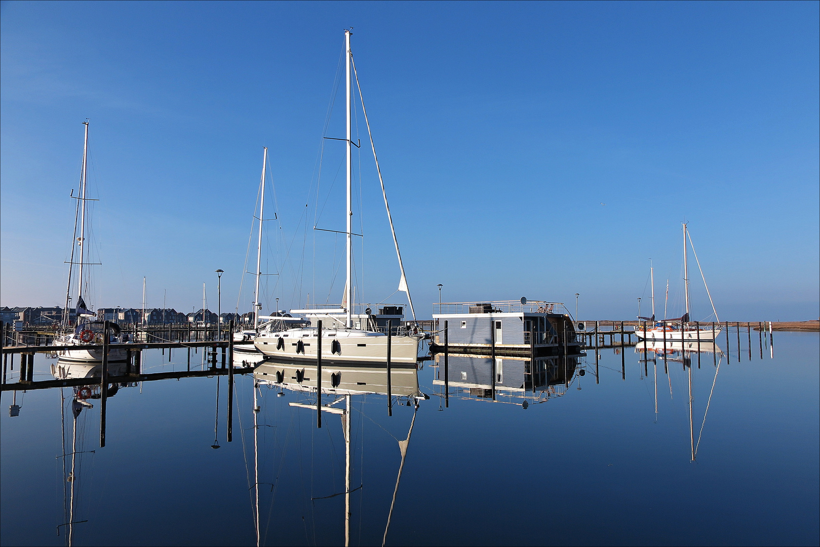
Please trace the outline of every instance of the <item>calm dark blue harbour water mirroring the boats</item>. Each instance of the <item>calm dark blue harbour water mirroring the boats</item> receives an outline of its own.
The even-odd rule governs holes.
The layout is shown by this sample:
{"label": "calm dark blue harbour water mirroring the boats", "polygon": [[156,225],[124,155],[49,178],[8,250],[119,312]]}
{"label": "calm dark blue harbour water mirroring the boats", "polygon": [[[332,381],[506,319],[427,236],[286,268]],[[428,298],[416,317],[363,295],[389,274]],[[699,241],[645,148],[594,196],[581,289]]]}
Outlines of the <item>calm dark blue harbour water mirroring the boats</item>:
{"label": "calm dark blue harbour water mirroring the boats", "polygon": [[[481,359],[451,362],[449,408],[444,373],[431,362],[418,371],[430,399],[417,410],[400,398],[389,417],[384,395],[353,396],[351,545],[381,543],[398,440],[414,413],[388,545],[818,545],[820,336],[776,334],[774,358],[765,349],[761,359],[753,335],[751,360],[745,333],[741,340],[740,362],[731,340],[729,354],[702,353],[700,367],[696,355],[690,369],[679,355],[667,359],[668,374],[663,358],[645,369],[634,349],[602,350],[597,384],[590,352],[568,387],[539,394],[542,403],[514,389],[519,363],[507,360],[498,400],[470,394],[490,378]],[[144,372],[184,369],[174,357],[150,353]],[[38,359],[34,380],[52,378],[55,361]],[[253,378],[237,377],[231,443],[226,385],[222,377],[121,388],[108,400],[104,449],[99,401],[88,399],[93,408],[76,420],[73,482],[59,456],[64,434],[71,452],[74,390],[18,393],[18,417],[3,393],[2,545],[66,545],[66,526],[60,536],[57,526],[71,485],[74,520],[87,521],[74,525],[73,545],[256,545],[255,469],[262,545],[344,545],[339,415],[323,413],[317,429],[315,411],[289,405],[315,395],[261,385],[254,458]]]}

